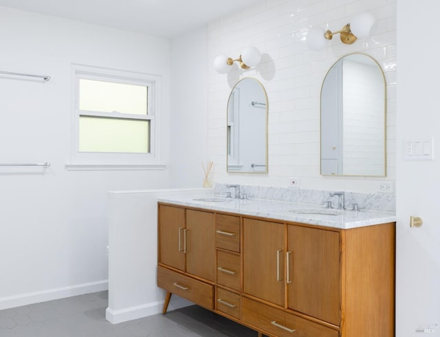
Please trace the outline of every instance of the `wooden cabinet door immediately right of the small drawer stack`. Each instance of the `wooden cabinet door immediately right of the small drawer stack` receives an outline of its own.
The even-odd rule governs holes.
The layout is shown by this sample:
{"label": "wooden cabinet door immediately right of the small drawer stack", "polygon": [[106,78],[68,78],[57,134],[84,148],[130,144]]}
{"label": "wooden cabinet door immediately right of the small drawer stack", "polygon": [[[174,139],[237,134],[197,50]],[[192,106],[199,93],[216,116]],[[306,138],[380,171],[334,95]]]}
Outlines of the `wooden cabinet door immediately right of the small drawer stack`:
{"label": "wooden cabinet door immediately right of the small drawer stack", "polygon": [[243,292],[284,306],[285,226],[243,219]]}

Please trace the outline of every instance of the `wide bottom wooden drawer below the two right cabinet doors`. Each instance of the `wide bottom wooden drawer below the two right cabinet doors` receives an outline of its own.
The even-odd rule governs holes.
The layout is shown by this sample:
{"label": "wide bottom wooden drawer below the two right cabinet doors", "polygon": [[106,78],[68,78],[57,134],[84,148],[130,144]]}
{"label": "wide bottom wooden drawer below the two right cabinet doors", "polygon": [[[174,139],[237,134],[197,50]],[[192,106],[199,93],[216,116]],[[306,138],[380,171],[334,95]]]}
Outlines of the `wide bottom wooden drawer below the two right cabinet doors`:
{"label": "wide bottom wooden drawer below the two right cabinet doors", "polygon": [[[283,310],[242,299],[241,320],[278,337],[338,337],[339,331],[324,327]],[[293,331],[294,330],[294,331]]]}

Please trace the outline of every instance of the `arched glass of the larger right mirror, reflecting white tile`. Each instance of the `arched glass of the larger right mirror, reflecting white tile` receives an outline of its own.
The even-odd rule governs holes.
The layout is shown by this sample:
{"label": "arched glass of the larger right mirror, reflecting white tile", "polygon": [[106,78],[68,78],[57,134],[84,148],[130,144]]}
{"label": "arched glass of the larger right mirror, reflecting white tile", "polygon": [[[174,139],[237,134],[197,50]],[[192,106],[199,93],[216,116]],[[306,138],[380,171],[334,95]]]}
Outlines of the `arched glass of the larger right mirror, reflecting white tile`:
{"label": "arched glass of the larger right mirror, reflecting white tile", "polygon": [[371,56],[344,56],[322,83],[321,174],[386,175],[386,84]]}

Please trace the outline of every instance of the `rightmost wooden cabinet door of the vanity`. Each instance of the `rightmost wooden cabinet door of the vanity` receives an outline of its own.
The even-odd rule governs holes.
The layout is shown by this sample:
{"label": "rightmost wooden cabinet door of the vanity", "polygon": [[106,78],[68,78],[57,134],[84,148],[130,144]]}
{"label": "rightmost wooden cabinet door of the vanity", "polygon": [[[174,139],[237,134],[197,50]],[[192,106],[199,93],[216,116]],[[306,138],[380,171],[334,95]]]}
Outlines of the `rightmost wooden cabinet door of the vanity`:
{"label": "rightmost wooden cabinet door of the vanity", "polygon": [[287,306],[339,325],[339,232],[288,225],[287,233]]}

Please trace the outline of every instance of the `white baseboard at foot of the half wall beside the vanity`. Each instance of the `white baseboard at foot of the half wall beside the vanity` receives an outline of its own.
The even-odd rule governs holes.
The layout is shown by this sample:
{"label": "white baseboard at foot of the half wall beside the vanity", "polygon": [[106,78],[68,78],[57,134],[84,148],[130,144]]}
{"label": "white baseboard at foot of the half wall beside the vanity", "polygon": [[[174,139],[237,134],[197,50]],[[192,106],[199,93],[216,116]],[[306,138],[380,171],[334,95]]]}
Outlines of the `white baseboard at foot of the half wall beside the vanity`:
{"label": "white baseboard at foot of the half wall beside the vanity", "polygon": [[[171,302],[168,305],[168,311],[179,309],[181,307],[188,307],[188,305],[194,304],[176,295],[173,295]],[[135,307],[128,307],[120,310],[113,310],[110,307],[107,307],[105,311],[105,318],[111,324],[118,324],[126,322],[127,320],[161,314],[163,306],[164,301],[146,303],[144,305],[137,305]]]}

